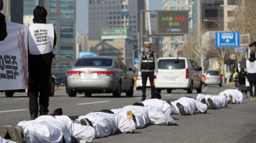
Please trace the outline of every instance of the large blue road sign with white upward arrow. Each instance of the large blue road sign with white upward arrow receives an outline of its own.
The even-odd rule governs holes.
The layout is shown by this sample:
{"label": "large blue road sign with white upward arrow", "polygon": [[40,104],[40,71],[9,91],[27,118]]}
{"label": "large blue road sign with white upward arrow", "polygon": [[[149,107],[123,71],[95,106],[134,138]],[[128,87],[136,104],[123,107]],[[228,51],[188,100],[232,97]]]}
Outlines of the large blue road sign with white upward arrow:
{"label": "large blue road sign with white upward arrow", "polygon": [[215,47],[240,47],[240,33],[215,32]]}

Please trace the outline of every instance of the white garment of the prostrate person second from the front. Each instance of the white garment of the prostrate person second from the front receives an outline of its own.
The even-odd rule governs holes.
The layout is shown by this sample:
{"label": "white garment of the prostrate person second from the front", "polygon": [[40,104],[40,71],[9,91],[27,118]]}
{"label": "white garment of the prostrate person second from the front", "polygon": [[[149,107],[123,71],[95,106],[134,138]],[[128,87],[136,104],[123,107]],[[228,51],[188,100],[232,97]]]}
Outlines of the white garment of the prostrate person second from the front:
{"label": "white garment of the prostrate person second from the front", "polygon": [[92,122],[92,127],[96,129],[96,137],[107,137],[116,132],[126,133],[135,131],[135,122],[133,120],[128,120],[115,114],[94,112],[85,116],[79,116],[77,120],[81,121],[84,118]]}

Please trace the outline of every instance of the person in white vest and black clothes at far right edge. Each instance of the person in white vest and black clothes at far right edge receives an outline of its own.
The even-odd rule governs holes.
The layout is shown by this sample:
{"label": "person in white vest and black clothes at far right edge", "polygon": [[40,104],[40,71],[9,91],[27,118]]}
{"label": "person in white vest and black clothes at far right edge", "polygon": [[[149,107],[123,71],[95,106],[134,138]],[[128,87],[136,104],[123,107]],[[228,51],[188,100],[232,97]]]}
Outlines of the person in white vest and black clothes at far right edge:
{"label": "person in white vest and black clothes at far right edge", "polygon": [[[250,83],[250,100],[255,100],[256,96],[256,58],[255,52],[250,53],[249,60],[246,61],[247,78]],[[252,93],[252,86],[254,86],[254,94]]]}

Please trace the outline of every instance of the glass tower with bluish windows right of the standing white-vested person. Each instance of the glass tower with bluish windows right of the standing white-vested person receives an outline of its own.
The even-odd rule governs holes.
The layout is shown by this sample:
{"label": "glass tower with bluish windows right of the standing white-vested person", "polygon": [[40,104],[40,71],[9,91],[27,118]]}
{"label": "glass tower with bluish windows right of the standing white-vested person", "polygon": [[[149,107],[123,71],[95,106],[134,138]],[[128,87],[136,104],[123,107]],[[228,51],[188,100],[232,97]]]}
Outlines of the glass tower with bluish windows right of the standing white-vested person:
{"label": "glass tower with bluish windows right of the standing white-vested person", "polygon": [[57,36],[52,73],[64,75],[76,62],[76,1],[39,0],[47,9],[47,23],[53,24]]}

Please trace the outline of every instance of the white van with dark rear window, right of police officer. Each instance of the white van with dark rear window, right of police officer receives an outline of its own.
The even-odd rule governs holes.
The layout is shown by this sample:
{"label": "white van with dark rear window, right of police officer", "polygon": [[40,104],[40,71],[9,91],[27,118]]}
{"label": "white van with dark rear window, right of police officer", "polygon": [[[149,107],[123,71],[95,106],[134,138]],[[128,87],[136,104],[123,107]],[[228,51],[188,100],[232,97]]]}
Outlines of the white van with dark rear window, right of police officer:
{"label": "white van with dark rear window, right of police officer", "polygon": [[187,93],[192,93],[193,89],[197,93],[202,92],[202,80],[200,71],[195,60],[183,57],[159,58],[158,73],[155,79],[155,88],[158,93],[161,90],[183,89]]}

